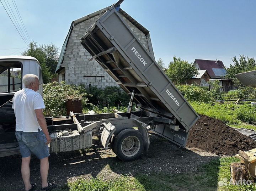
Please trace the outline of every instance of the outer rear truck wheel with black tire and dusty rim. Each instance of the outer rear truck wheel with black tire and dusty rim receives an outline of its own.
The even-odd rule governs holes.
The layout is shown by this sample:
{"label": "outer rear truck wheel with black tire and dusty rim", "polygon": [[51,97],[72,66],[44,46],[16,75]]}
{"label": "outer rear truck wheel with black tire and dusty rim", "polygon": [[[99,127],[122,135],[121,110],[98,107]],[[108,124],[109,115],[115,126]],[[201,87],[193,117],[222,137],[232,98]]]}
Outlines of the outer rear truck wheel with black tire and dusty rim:
{"label": "outer rear truck wheel with black tire and dusty rim", "polygon": [[139,131],[124,129],[116,136],[113,148],[122,161],[134,161],[143,153],[144,140]]}

